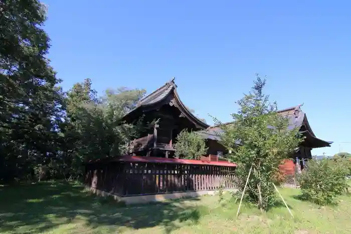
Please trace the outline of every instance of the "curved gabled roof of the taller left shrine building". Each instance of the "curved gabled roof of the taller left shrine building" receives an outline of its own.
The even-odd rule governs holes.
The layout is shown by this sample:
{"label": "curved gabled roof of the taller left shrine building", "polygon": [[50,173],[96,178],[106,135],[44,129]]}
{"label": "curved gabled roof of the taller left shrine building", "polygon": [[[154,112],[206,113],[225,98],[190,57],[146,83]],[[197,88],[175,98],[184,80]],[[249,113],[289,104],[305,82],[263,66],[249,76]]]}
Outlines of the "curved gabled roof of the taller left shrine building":
{"label": "curved gabled roof of the taller left shrine building", "polygon": [[136,108],[129,112],[126,116],[124,116],[124,118],[140,109],[144,110],[147,107],[156,106],[158,104],[162,104],[164,102],[169,101],[170,105],[174,105],[175,107],[177,107],[182,112],[184,117],[188,118],[198,128],[207,129],[208,127],[210,127],[210,125],[198,119],[184,105],[177,93],[177,85],[175,85],[174,79],[175,78],[166,82],[163,86],[161,86],[151,94],[147,95],[145,98],[141,99],[136,105]]}

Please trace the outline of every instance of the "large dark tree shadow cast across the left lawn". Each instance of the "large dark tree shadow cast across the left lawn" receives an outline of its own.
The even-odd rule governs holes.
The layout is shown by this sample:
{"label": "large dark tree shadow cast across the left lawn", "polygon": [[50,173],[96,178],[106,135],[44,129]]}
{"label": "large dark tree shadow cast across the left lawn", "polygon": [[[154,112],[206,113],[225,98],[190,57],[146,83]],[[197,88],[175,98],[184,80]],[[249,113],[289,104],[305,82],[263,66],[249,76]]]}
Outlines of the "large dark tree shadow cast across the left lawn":
{"label": "large dark tree shadow cast across the left lawn", "polygon": [[62,224],[79,222],[90,229],[105,226],[113,233],[123,227],[153,226],[161,226],[169,233],[180,226],[196,224],[208,213],[206,206],[186,202],[198,198],[125,205],[84,192],[83,186],[66,182],[2,188],[0,232],[47,232]]}

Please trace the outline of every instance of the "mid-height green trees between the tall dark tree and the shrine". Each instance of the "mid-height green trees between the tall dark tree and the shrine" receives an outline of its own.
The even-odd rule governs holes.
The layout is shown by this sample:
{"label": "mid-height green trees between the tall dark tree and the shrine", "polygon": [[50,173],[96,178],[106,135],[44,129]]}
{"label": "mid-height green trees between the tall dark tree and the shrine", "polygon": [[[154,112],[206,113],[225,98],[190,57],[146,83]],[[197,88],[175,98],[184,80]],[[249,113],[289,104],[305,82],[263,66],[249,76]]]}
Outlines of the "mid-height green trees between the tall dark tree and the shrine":
{"label": "mid-height green trees between the tall dark tree and the shrine", "polygon": [[98,97],[90,79],[72,87],[67,93],[67,121],[63,126],[66,174],[79,177],[84,162],[124,153],[138,126],[125,124],[121,118],[144,94],[144,90],[119,88]]}

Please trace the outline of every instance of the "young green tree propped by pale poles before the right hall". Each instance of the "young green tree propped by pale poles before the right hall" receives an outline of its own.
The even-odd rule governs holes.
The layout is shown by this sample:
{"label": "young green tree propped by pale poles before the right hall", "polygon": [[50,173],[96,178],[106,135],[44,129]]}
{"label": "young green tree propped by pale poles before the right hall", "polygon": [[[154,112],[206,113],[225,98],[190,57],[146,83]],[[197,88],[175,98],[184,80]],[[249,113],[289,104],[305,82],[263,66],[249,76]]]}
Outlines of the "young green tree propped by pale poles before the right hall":
{"label": "young green tree propped by pale poles before the right hall", "polygon": [[[277,105],[263,94],[266,79],[257,75],[252,91],[236,102],[234,122],[223,124],[222,144],[229,150],[228,159],[238,163],[239,192],[242,193],[250,168],[245,198],[267,210],[275,202],[274,176],[279,164],[302,141],[298,128],[288,130],[288,120],[277,114]],[[221,124],[217,119],[216,122]],[[240,139],[242,146],[236,144]]]}

